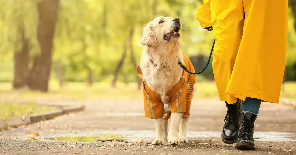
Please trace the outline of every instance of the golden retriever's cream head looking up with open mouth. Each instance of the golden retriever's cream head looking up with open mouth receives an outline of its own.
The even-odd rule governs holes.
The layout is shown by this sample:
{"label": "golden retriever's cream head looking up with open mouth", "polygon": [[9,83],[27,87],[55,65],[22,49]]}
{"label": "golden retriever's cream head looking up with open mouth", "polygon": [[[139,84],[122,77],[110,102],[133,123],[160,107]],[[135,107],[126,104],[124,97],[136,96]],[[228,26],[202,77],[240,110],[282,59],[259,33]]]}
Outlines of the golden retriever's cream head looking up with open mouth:
{"label": "golden retriever's cream head looking up with open mouth", "polygon": [[144,27],[139,43],[144,46],[157,46],[178,41],[180,30],[180,18],[157,17]]}

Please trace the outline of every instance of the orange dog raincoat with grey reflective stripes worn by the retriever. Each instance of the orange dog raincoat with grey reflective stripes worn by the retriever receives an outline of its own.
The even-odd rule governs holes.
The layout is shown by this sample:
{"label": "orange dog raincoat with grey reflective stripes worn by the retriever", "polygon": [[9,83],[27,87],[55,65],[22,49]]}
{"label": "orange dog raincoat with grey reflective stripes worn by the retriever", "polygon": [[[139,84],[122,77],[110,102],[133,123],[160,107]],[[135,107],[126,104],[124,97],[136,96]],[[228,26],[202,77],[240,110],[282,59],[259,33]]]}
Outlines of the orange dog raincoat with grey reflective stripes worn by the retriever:
{"label": "orange dog raincoat with grey reflective stripes worn by the retriever", "polygon": [[[194,72],[194,67],[187,56],[182,54],[184,60],[184,66]],[[140,66],[137,68],[137,75],[143,79],[143,94],[144,94],[144,111],[145,117],[158,119],[162,118],[169,119],[171,112],[184,112],[183,117],[187,118],[189,116],[189,110],[192,99],[193,85],[195,84],[195,75],[189,74],[183,71],[183,75],[178,83],[176,83],[173,88],[167,92],[166,95],[170,98],[171,112],[165,114],[163,109],[163,102],[160,100],[160,95],[151,90],[145,79],[142,76],[142,71]],[[187,91],[187,84],[189,84],[189,89]],[[187,92],[187,93],[186,93]]]}

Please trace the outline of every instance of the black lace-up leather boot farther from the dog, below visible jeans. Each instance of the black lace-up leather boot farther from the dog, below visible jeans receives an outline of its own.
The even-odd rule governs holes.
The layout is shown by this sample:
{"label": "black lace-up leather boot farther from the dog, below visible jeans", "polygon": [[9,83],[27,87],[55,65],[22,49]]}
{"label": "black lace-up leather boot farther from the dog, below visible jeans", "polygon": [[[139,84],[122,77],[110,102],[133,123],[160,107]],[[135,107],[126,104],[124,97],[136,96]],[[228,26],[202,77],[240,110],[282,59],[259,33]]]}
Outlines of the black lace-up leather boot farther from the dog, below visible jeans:
{"label": "black lace-up leather boot farther from the dog, below visible jeans", "polygon": [[241,150],[255,150],[254,144],[254,123],[257,115],[251,112],[246,112],[242,119],[242,130],[239,134],[239,139],[237,140],[237,145],[235,148]]}

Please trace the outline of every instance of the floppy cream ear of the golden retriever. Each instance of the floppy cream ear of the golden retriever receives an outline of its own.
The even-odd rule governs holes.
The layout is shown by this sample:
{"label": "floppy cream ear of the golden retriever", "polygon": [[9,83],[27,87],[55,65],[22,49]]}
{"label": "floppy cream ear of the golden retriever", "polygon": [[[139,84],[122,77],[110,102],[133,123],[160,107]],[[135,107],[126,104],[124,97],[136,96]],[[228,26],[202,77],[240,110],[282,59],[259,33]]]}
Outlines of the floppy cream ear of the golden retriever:
{"label": "floppy cream ear of the golden retriever", "polygon": [[141,45],[147,46],[157,46],[156,36],[152,30],[152,26],[148,23],[143,29],[143,35],[138,42]]}

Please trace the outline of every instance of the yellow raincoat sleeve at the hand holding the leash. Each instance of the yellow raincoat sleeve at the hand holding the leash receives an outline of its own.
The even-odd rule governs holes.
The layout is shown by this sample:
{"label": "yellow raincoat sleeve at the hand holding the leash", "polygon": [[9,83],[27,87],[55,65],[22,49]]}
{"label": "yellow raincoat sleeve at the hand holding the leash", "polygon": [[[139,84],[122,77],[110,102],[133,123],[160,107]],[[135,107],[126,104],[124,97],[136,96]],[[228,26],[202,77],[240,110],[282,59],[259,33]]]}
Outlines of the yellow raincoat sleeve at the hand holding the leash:
{"label": "yellow raincoat sleeve at the hand holding the leash", "polygon": [[204,5],[196,10],[196,19],[203,29],[211,29],[213,24],[211,20],[210,0],[204,1]]}

